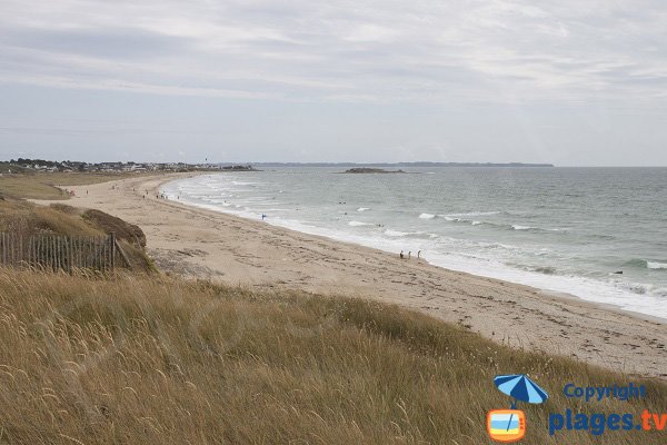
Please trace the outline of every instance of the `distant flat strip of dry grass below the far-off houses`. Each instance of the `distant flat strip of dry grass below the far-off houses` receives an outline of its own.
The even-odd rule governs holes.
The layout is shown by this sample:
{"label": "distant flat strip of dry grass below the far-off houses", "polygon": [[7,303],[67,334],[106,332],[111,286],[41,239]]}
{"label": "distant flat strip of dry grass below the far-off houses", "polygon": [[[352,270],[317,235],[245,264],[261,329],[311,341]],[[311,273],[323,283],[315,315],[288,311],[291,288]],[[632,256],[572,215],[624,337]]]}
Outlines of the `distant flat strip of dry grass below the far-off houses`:
{"label": "distant flat strip of dry grass below the far-off houses", "polygon": [[27,172],[0,176],[0,196],[27,199],[69,199],[57,186],[84,186],[148,174],[132,172]]}

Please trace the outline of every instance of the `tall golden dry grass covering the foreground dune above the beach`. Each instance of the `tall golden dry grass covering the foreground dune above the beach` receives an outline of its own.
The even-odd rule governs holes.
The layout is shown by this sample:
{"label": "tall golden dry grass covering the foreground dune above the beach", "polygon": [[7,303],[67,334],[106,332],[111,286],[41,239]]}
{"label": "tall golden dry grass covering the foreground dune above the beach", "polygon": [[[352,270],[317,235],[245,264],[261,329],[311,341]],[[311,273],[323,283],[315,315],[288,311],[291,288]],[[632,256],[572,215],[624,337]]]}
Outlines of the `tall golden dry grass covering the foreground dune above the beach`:
{"label": "tall golden dry grass covering the foreground dune above the beach", "polygon": [[639,403],[578,406],[559,394],[567,382],[627,377],[360,299],[0,270],[0,340],[12,444],[482,444],[487,411],[509,405],[492,384],[506,373],[551,395],[521,406],[525,443],[665,443],[546,429],[567,407],[667,412],[661,384]]}

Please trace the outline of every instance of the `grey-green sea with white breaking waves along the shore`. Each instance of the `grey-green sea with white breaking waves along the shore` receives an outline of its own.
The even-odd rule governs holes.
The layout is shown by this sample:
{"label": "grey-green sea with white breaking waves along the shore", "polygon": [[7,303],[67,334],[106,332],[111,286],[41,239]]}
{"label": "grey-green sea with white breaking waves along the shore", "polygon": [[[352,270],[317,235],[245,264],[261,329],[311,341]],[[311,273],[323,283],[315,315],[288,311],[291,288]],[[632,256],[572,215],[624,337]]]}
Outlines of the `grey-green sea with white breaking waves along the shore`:
{"label": "grey-green sea with white breaking waves along the shore", "polygon": [[[667,318],[667,168],[268,168],[166,184],[186,204]],[[623,274],[616,274],[623,271]]]}

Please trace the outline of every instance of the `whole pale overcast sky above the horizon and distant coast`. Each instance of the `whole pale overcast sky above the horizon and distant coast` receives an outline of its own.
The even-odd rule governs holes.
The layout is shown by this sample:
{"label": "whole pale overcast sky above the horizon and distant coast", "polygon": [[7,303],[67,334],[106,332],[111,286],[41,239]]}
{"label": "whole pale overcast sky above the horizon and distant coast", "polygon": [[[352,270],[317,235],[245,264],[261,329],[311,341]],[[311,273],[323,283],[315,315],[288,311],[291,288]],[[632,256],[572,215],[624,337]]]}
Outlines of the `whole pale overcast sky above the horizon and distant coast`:
{"label": "whole pale overcast sky above the horizon and distant coast", "polygon": [[667,166],[667,3],[2,0],[18,157]]}

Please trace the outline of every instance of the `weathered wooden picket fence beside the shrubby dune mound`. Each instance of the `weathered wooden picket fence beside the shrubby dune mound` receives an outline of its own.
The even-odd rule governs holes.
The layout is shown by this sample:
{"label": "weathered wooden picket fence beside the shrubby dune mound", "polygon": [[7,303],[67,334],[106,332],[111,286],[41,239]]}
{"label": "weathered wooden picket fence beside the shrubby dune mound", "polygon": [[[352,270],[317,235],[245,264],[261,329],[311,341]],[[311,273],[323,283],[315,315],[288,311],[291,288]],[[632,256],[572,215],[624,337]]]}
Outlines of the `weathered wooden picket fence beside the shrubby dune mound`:
{"label": "weathered wooden picket fence beside the shrubby dune mound", "polygon": [[0,233],[0,266],[42,270],[113,270],[122,260],[129,266],[116,235],[106,237]]}

